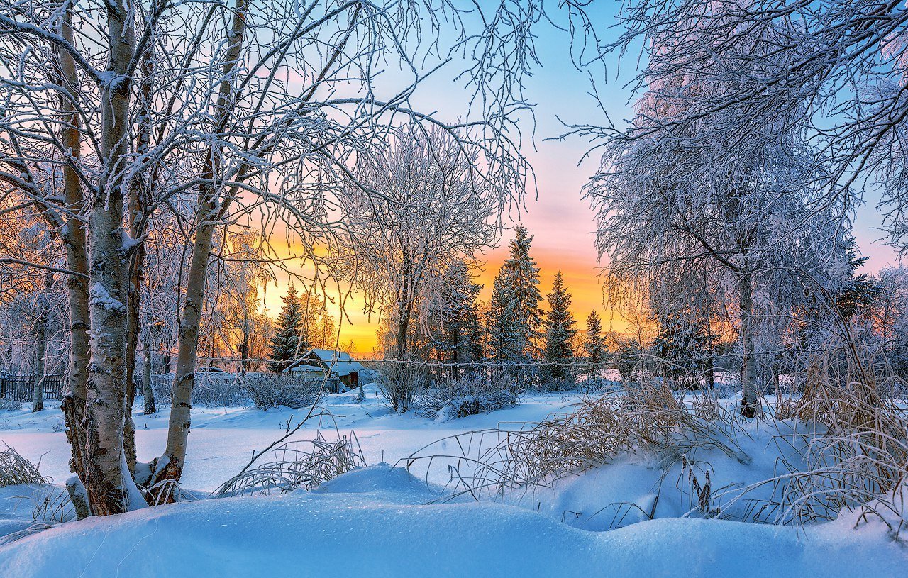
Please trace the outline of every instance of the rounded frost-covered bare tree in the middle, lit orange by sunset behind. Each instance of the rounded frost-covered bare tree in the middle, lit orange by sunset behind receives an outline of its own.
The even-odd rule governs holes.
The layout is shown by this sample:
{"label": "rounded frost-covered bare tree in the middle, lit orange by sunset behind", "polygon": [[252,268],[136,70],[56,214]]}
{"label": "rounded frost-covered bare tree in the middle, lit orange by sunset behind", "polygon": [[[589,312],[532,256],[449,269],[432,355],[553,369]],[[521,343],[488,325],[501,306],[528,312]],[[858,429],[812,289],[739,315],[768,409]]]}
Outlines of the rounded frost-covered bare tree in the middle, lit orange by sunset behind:
{"label": "rounded frost-covered bare tree in the middle, lit orange by sunset behind", "polygon": [[[400,362],[413,357],[412,325],[428,335],[446,271],[494,246],[498,220],[518,191],[485,178],[449,132],[414,124],[390,139],[384,154],[358,160],[341,214],[356,282],[389,319],[395,345],[387,353]],[[402,392],[392,404],[405,408]]]}

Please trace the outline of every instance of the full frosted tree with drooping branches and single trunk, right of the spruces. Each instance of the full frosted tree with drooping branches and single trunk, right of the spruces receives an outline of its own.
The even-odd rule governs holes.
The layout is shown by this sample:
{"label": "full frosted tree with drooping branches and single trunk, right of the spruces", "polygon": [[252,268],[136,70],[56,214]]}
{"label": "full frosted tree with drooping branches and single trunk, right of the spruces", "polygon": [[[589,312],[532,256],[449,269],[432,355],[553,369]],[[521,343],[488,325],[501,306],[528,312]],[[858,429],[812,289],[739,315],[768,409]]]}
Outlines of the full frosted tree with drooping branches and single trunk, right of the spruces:
{"label": "full frosted tree with drooping branches and single trunk, right of the spruces", "polygon": [[[723,45],[701,35],[701,24],[708,19],[649,36],[652,63],[667,67],[666,54],[679,57],[684,44],[700,47],[697,62],[707,72],[725,67]],[[737,50],[753,60],[737,62],[734,74],[699,75],[677,60],[674,74],[650,77],[634,121],[611,135],[586,193],[611,297],[667,288],[684,304],[695,292],[711,295],[704,287],[722,288],[717,297],[735,309],[742,344],[745,416],[758,411],[761,324],[787,315],[805,284],[836,282],[843,263],[840,223],[815,203],[826,158],[809,144],[804,105],[754,110],[730,102],[708,119],[676,119],[707,95],[737,90],[739,76],[763,73],[765,63],[785,66],[792,55],[775,54],[779,37],[775,28],[748,36]]]}

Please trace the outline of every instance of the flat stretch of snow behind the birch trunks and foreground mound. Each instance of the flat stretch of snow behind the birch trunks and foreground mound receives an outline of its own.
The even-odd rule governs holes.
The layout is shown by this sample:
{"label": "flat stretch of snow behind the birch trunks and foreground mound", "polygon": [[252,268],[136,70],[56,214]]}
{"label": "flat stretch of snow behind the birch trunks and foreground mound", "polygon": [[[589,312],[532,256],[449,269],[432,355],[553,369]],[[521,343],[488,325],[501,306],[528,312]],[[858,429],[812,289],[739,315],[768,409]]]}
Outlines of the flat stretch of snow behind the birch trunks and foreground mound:
{"label": "flat stretch of snow behind the birch trunks and foreground mound", "polygon": [[[491,414],[468,416],[445,422],[393,413],[378,397],[376,387],[366,387],[366,399],[358,403],[357,391],[324,398],[323,407],[334,419],[321,418],[321,431],[332,436],[334,422],[341,435],[356,432],[363,456],[369,464],[394,464],[422,446],[446,436],[486,427],[507,426],[506,422],[534,422],[553,411],[566,411],[580,398],[579,394],[536,394],[521,397],[516,407]],[[37,464],[41,473],[63,483],[69,472],[69,446],[63,432],[63,414],[55,404],[33,414],[28,407],[0,412],[0,444],[15,448]],[[133,411],[135,443],[139,461],[150,461],[163,452],[167,439],[170,407],[153,416],[143,416],[142,401]],[[261,450],[281,437],[288,420],[296,423],[308,409],[288,407],[268,411],[254,407],[192,408],[192,431],[183,473],[187,488],[212,491],[249,462],[252,450]],[[311,439],[319,429],[319,420],[311,420],[293,440]],[[59,431],[54,431],[57,429]]]}

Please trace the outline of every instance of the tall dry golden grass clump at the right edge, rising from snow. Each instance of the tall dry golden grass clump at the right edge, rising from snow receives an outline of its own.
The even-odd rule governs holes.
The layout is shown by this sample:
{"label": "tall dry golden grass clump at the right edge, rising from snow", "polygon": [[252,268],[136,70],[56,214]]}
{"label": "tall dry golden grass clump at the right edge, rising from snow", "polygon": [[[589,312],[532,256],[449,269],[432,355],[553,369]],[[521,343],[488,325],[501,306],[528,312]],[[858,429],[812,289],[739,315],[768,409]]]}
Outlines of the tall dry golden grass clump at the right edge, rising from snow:
{"label": "tall dry golden grass clump at the right edge, rising from snow", "polygon": [[777,409],[777,418],[794,416],[808,431],[805,450],[781,460],[784,470],[771,480],[775,522],[818,522],[855,508],[881,519],[891,517],[882,510],[908,514],[894,497],[908,478],[908,415],[881,395],[887,376],[885,367],[868,370],[864,356],[833,350],[810,358],[804,395]]}

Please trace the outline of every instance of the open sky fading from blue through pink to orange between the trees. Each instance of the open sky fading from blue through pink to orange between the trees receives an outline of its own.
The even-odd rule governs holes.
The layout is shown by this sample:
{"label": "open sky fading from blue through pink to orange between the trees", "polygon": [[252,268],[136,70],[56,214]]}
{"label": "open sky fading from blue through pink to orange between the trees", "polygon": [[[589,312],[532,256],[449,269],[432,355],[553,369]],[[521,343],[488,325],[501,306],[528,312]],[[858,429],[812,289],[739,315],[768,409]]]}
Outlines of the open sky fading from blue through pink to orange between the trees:
{"label": "open sky fading from blue through pink to orange between the trees", "polygon": [[[607,34],[607,24],[613,19],[614,3],[607,3],[594,14],[594,19]],[[587,71],[578,71],[570,64],[568,36],[553,26],[538,28],[535,40],[539,65],[526,83],[525,95],[534,103],[535,124],[524,118],[521,128],[525,133],[534,133],[532,139],[525,139],[522,152],[536,172],[536,191],[529,191],[525,211],[512,212],[506,222],[498,249],[480,256],[485,266],[478,281],[485,289],[480,299],[488,300],[492,279],[503,260],[507,258],[507,241],[512,228],[518,222],[534,235],[531,255],[541,269],[540,289],[545,296],[551,288],[552,279],[558,269],[562,270],[566,285],[573,296],[572,310],[579,324],[592,309],[608,320],[613,319],[612,328],[621,330],[623,321],[611,315],[603,305],[602,287],[598,279],[600,263],[594,246],[595,214],[582,196],[582,187],[597,170],[598,156],[593,152],[586,160],[583,157],[590,148],[588,142],[579,138],[553,141],[567,131],[566,122],[604,124],[605,114],[599,108],[601,103],[609,118],[615,122],[631,116],[634,95],[625,84],[634,72],[636,54],[630,54],[618,66],[617,58],[607,61],[605,69],[593,70],[597,74],[598,101],[591,96]],[[455,63],[456,64],[456,63]],[[617,73],[620,71],[620,73]],[[462,89],[463,83],[454,83],[452,68],[448,75],[439,74],[422,84],[414,104],[421,110],[438,111],[442,119],[455,119],[466,111],[469,93]],[[391,74],[393,78],[393,74]],[[583,160],[583,162],[581,162]],[[875,211],[873,198],[866,199],[864,207],[857,212],[854,221],[854,235],[858,248],[869,259],[865,269],[876,271],[897,262],[894,250],[880,240],[883,232],[877,230],[881,217]],[[286,291],[286,282],[271,288],[268,292],[267,307],[271,315],[280,310],[280,297]],[[340,311],[335,308],[335,317]],[[372,353],[375,345],[375,331],[378,327],[361,313],[361,301],[352,299],[346,308],[346,317],[341,325],[341,343],[353,339],[360,356]]]}

